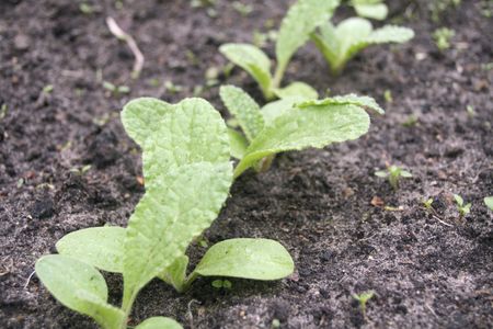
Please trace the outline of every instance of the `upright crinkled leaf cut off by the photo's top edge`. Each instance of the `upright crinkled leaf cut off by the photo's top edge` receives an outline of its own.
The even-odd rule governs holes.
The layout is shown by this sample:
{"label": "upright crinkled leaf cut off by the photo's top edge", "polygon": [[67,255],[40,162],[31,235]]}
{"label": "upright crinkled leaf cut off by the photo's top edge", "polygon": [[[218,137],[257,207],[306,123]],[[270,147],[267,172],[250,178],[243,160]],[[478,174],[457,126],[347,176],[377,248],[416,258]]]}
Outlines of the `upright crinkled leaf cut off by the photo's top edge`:
{"label": "upright crinkled leaf cut off by the photo's top edge", "polygon": [[326,23],[339,0],[298,0],[284,18],[276,43],[277,65],[285,68],[318,26]]}

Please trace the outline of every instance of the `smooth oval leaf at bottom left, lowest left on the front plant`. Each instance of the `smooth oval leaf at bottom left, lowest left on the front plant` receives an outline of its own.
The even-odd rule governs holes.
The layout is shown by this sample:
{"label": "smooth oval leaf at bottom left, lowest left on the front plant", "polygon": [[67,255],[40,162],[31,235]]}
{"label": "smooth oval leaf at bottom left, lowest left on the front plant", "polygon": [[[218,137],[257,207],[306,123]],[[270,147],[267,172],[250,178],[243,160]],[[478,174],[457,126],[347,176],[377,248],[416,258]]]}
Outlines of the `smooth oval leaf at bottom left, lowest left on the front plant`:
{"label": "smooth oval leaf at bottom left, lowest left on the front plant", "polygon": [[92,317],[103,328],[119,328],[125,315],[107,304],[103,275],[93,266],[60,256],[44,256],[36,262],[36,275],[66,307]]}

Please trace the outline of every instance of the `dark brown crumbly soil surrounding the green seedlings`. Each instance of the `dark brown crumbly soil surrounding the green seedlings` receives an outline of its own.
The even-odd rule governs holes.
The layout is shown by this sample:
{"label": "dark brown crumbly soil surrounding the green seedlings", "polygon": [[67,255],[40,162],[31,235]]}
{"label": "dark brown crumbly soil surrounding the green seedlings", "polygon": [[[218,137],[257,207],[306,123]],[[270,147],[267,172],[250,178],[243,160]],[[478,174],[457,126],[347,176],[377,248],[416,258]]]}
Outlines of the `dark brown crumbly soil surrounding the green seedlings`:
{"label": "dark brown crumbly soil surrounding the green seedlings", "polygon": [[[320,92],[375,97],[387,114],[375,115],[356,141],[285,154],[268,172],[241,177],[206,232],[210,243],[277,239],[296,272],[278,282],[232,280],[230,291],[202,279],[183,295],[152,281],[136,302],[133,325],[164,315],[187,328],[271,328],[274,319],[282,328],[493,328],[493,212],[482,201],[493,194],[493,22],[481,11],[485,1],[462,1],[439,22],[428,1],[388,2],[390,21],[415,30],[411,43],[369,48],[339,79],[324,73],[326,64],[309,45],[286,77]],[[206,83],[207,69],[226,64],[219,45],[277,26],[288,5],[249,1],[253,12],[243,16],[218,0],[214,18],[190,1],[94,0],[87,14],[79,3],[0,1],[1,328],[95,328],[32,274],[64,235],[125,226],[142,195],[139,151],[118,118],[123,104],[139,95],[191,97]],[[146,57],[138,80],[130,79],[131,53],[105,25],[108,15]],[[439,26],[456,31],[444,53],[431,36]],[[266,50],[273,55],[272,43]],[[183,89],[167,91],[168,80]],[[103,81],[131,91],[112,94]],[[220,75],[226,81],[262,101],[241,70]],[[53,91],[43,92],[49,84]],[[387,90],[392,102],[385,101]],[[217,86],[202,97],[225,113]],[[393,191],[374,174],[386,162],[413,178]],[[92,167],[80,173],[85,164]],[[472,203],[470,215],[459,218],[452,193]],[[423,207],[428,197],[436,214]],[[203,252],[190,250],[194,260]],[[122,280],[105,276],[118,304]],[[370,290],[365,318],[352,295]]]}

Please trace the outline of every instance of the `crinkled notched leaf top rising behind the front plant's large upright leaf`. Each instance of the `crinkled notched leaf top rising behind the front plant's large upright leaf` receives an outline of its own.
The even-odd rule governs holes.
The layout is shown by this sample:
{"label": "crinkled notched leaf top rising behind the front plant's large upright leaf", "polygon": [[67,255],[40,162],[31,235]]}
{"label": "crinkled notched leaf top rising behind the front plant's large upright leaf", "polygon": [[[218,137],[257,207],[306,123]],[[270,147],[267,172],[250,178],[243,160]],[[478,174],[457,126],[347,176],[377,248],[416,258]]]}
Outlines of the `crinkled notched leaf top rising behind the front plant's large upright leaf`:
{"label": "crinkled notched leaf top rising behind the front plant's large upright leaf", "polygon": [[205,100],[185,99],[170,105],[137,99],[125,105],[122,122],[130,137],[137,137],[137,143],[144,140],[139,144],[146,188],[182,164],[229,160],[229,154],[222,152],[226,145],[229,149],[223,120]]}

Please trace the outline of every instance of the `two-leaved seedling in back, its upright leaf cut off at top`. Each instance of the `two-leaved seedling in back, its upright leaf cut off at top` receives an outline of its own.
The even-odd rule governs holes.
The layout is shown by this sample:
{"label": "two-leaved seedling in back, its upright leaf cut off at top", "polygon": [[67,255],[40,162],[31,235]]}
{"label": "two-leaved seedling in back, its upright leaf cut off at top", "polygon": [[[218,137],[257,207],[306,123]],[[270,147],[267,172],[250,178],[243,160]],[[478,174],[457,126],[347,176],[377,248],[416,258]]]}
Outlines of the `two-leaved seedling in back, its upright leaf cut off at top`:
{"label": "two-leaved seedling in back, its upright leaf cut off at top", "polygon": [[310,34],[326,22],[340,4],[340,0],[298,0],[284,18],[277,42],[277,67],[271,72],[268,56],[251,44],[225,44],[219,50],[231,63],[241,67],[259,83],[265,99],[276,97],[286,68],[295,53],[305,45]]}

